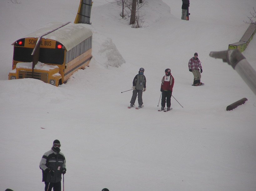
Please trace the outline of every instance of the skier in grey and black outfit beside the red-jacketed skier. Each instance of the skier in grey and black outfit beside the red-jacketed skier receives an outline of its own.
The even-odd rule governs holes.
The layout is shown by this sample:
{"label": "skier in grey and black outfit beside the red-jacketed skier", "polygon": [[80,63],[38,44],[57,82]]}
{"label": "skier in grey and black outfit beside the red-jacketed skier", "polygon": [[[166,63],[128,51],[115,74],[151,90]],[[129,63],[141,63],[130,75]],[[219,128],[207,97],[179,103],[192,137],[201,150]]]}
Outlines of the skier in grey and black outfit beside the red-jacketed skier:
{"label": "skier in grey and black outfit beside the red-jacketed skier", "polygon": [[139,69],[139,73],[133,79],[133,96],[130,101],[130,107],[134,106],[138,94],[139,108],[143,105],[142,92],[146,91],[146,77],[144,76],[144,68]]}

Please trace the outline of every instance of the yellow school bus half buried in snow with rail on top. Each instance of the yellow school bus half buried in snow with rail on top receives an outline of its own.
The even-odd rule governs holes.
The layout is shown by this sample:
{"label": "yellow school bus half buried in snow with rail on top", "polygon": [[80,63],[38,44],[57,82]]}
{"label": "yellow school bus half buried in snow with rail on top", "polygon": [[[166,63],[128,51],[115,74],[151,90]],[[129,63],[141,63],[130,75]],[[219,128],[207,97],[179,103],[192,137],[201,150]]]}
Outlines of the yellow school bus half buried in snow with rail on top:
{"label": "yellow school bus half buried in snow with rail on top", "polygon": [[92,58],[92,31],[86,24],[49,23],[15,41],[8,79],[35,78],[54,86],[66,83]]}

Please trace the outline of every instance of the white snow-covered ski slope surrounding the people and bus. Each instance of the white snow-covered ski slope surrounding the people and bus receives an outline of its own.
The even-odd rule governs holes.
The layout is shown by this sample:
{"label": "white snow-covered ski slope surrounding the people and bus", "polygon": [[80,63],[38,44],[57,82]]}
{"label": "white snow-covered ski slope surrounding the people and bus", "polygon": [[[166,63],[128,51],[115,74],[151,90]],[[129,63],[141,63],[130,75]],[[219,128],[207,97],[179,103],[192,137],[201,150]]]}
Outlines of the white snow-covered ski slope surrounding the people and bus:
{"label": "white snow-covered ski slope surrounding the people and bus", "polygon": [[[39,162],[54,139],[67,160],[65,190],[256,190],[256,97],[231,66],[209,57],[240,40],[255,0],[191,1],[189,21],[180,19],[181,1],[144,0],[139,29],[112,1],[94,0],[90,67],[59,87],[8,80],[11,44],[49,22],[73,22],[79,2],[0,1],[0,190],[43,190]],[[254,37],[243,52],[254,69],[255,49]],[[191,86],[194,52],[204,86]],[[132,92],[121,92],[141,67],[144,108],[127,109]],[[166,68],[183,107],[172,98],[163,113]]]}

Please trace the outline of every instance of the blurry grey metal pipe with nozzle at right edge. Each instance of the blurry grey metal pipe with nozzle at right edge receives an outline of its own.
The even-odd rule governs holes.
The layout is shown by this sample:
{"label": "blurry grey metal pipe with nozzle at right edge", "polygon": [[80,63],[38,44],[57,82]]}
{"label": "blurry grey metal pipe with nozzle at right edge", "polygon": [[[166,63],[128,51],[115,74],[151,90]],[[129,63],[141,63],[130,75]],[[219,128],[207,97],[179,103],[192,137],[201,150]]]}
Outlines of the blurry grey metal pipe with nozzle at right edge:
{"label": "blurry grey metal pipe with nozzle at right edge", "polygon": [[210,52],[209,55],[213,58],[221,58],[223,62],[227,62],[229,65],[231,65],[256,95],[256,71],[238,49]]}

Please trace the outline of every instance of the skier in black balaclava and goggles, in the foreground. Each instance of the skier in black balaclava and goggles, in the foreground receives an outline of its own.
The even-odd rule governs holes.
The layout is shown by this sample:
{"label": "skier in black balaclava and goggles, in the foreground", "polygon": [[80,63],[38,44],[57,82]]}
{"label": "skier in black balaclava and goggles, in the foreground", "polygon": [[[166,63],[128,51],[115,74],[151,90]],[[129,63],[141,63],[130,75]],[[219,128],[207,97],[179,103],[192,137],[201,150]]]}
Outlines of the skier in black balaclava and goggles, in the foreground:
{"label": "skier in black balaclava and goggles, in the foreground", "polygon": [[53,141],[53,147],[50,151],[43,154],[40,161],[40,169],[43,172],[45,191],[61,191],[61,175],[66,173],[66,159],[60,152],[59,140]]}

